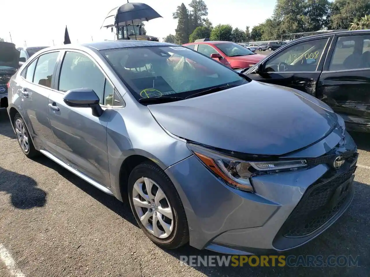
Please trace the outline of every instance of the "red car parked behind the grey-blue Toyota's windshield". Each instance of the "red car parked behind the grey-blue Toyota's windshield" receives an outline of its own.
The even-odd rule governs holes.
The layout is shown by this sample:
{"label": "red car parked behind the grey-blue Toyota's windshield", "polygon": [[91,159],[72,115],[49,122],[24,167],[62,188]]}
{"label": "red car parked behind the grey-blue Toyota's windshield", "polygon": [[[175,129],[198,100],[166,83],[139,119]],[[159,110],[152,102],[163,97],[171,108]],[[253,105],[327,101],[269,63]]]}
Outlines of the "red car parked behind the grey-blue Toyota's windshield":
{"label": "red car parked behind the grey-blue Toyota's windshield", "polygon": [[266,57],[229,41],[192,42],[183,46],[201,52],[233,69],[250,67]]}

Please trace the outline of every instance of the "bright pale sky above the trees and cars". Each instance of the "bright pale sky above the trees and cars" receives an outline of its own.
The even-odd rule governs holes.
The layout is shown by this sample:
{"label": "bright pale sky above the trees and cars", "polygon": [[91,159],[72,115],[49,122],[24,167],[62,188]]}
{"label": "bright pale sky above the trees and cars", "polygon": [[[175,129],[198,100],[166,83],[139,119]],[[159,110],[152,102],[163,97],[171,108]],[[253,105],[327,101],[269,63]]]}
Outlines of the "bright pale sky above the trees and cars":
{"label": "bright pale sky above the trees and cars", "polygon": [[[67,25],[72,43],[112,40],[110,29],[100,29],[108,12],[127,0],[17,0],[5,1],[5,12],[0,17],[0,38],[17,46],[52,46],[63,44]],[[156,10],[163,18],[145,22],[148,35],[159,37],[175,34],[177,20],[172,13],[182,2],[188,7],[191,0],[131,0],[142,2]],[[250,30],[272,16],[276,0],[204,0],[212,24],[231,24],[233,28]],[[26,44],[26,45],[25,45]]]}

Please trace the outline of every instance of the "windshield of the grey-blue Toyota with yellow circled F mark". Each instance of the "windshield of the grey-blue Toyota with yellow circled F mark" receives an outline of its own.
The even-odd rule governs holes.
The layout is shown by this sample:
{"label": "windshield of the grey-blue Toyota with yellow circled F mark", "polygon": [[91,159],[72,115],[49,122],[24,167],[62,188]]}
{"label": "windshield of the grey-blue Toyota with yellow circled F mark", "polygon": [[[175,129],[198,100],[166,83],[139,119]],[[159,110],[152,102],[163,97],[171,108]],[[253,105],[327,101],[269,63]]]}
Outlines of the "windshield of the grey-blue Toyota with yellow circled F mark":
{"label": "windshield of the grey-blue Toyota with yellow circled F mark", "polygon": [[248,83],[221,63],[181,46],[110,49],[102,54],[138,100],[185,98],[210,88]]}

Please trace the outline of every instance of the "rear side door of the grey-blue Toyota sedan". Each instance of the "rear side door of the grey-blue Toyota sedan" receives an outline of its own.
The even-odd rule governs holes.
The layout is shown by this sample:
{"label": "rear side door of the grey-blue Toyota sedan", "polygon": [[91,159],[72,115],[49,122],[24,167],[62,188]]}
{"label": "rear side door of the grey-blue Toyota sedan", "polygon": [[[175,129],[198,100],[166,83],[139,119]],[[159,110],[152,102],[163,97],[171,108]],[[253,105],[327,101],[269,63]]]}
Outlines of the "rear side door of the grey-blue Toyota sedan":
{"label": "rear side door of the grey-blue Toyota sedan", "polygon": [[48,118],[48,96],[60,52],[48,52],[34,59],[20,82],[21,114],[37,149],[54,153],[55,141]]}

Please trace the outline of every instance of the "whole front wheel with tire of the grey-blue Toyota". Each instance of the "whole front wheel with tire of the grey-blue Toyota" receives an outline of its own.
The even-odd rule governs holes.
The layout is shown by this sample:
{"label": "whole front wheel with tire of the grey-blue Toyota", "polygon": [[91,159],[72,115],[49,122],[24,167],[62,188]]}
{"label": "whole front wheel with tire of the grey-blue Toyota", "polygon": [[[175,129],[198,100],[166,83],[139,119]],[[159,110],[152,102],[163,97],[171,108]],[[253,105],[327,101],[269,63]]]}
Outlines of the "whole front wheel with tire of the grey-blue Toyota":
{"label": "whole front wheel with tire of the grey-blue Toyota", "polygon": [[184,206],[161,168],[149,162],[135,167],[129,176],[128,195],[138,225],[152,242],[174,249],[189,241]]}

